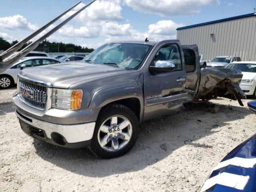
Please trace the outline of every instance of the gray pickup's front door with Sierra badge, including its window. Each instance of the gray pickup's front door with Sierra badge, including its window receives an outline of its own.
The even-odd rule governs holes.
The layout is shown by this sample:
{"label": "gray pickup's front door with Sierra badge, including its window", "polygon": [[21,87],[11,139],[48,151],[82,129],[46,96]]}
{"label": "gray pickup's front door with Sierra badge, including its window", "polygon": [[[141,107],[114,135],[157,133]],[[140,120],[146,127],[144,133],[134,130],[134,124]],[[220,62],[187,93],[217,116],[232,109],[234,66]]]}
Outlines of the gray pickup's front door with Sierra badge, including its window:
{"label": "gray pickup's front door with Sierra badge, including its window", "polygon": [[[177,111],[188,98],[188,93],[184,92],[186,71],[180,42],[159,42],[152,52],[149,66],[144,66],[144,120]],[[172,62],[175,68],[156,74],[150,72],[150,66],[158,61]]]}

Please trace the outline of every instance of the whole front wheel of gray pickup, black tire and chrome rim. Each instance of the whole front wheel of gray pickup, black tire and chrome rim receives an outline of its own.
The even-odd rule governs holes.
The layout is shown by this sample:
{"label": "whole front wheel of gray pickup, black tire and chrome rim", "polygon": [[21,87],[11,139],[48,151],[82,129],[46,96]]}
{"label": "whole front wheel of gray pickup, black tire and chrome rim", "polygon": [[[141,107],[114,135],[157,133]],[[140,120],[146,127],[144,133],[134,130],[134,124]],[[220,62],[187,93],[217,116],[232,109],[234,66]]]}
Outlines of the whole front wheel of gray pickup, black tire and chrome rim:
{"label": "whole front wheel of gray pickup, black tire and chrome rim", "polygon": [[130,108],[107,106],[98,116],[90,150],[100,158],[123,156],[134,146],[138,133],[138,118]]}

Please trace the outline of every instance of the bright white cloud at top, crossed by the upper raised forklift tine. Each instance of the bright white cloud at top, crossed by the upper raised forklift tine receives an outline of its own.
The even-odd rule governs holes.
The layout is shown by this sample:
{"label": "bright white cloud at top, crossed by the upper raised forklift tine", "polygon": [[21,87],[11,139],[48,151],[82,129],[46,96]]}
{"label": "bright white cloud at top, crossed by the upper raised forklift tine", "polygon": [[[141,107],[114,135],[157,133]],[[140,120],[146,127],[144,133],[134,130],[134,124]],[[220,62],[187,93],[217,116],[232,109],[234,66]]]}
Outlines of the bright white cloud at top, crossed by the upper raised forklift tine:
{"label": "bright white cloud at top, crossed by the upper raised forklift tine", "polygon": [[[74,18],[76,22],[86,23],[88,20],[102,20],[102,21],[120,21],[123,20],[121,11],[122,7],[119,5],[120,0],[98,0],[83,10],[78,16]],[[74,10],[68,12],[64,18],[74,14],[77,10],[85,6],[80,3]]]}

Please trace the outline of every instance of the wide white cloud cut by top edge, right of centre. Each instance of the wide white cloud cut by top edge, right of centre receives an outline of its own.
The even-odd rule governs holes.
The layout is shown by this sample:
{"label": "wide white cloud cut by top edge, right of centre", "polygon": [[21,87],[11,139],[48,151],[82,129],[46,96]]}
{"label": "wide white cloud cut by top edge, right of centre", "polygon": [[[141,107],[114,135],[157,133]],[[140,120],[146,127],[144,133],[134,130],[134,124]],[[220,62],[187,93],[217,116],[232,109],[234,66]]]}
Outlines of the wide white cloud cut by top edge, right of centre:
{"label": "wide white cloud cut by top edge, right of centre", "polygon": [[220,0],[124,0],[136,11],[160,16],[189,15],[200,12],[205,5],[218,5]]}

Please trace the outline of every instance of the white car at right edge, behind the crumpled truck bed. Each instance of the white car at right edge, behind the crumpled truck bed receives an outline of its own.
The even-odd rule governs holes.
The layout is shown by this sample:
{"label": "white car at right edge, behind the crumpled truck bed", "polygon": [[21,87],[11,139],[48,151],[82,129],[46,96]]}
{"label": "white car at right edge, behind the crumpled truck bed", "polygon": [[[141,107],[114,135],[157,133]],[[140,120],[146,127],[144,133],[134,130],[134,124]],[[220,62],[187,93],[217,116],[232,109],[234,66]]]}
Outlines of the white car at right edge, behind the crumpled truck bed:
{"label": "white car at right edge, behind the crumpled truck bed", "polygon": [[240,88],[246,95],[256,98],[256,62],[232,62],[226,68],[241,70],[244,76],[240,83]]}

